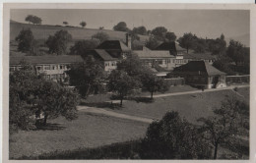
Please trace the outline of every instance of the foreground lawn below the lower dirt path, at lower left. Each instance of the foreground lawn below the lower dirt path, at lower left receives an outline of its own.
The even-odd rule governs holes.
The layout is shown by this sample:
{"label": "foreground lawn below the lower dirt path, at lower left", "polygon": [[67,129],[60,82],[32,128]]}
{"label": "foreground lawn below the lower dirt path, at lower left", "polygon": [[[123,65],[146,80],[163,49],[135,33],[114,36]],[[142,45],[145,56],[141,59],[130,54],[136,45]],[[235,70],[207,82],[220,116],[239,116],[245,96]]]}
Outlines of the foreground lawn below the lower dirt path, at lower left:
{"label": "foreground lawn below the lower dirt path, at lower left", "polygon": [[49,121],[47,130],[22,131],[10,136],[10,158],[36,156],[55,150],[96,147],[145,136],[149,124],[80,113],[74,121]]}

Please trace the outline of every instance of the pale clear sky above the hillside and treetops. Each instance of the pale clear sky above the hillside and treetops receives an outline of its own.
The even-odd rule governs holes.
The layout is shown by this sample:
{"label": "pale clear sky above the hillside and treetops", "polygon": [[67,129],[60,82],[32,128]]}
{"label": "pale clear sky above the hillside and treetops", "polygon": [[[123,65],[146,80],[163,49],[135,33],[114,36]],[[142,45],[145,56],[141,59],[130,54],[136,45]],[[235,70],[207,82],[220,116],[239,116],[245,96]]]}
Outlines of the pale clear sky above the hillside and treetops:
{"label": "pale clear sky above the hillside and treetops", "polygon": [[144,26],[147,29],[166,27],[177,36],[192,32],[200,37],[240,37],[250,32],[248,10],[156,10],[156,9],[12,9],[11,20],[26,23],[25,18],[34,15],[42,25],[79,26],[85,21],[88,28],[112,29],[119,22],[127,27]]}

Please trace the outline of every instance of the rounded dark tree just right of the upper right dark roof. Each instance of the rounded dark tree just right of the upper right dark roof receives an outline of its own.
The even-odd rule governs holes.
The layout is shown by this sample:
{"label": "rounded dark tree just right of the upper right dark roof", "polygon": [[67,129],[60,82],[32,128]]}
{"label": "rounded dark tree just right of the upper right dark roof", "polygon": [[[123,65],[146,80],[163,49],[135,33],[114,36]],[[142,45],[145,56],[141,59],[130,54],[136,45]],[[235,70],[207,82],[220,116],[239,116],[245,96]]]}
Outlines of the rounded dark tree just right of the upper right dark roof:
{"label": "rounded dark tree just right of the upper right dark roof", "polygon": [[195,35],[193,35],[191,32],[184,33],[182,37],[178,38],[178,42],[181,47],[187,49],[187,53],[189,49],[192,49],[194,47],[195,43]]}

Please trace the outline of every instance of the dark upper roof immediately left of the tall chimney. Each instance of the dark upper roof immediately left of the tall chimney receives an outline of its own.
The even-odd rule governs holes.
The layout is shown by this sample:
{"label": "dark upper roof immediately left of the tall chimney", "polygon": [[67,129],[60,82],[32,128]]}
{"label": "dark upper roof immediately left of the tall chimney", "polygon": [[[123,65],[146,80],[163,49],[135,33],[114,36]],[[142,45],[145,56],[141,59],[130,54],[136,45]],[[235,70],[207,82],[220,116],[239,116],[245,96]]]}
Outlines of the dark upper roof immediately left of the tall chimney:
{"label": "dark upper roof immediately left of the tall chimney", "polygon": [[131,49],[127,47],[120,40],[105,40],[100,45],[96,47],[96,49],[104,49],[104,50],[119,50],[122,52],[129,52]]}

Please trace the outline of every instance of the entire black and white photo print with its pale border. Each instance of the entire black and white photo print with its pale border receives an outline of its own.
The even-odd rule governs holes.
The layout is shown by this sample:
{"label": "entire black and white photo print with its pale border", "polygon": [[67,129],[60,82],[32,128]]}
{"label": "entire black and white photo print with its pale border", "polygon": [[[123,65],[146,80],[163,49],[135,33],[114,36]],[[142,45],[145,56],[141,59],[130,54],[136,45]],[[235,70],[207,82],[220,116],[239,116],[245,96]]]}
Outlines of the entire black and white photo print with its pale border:
{"label": "entire black and white photo print with its pale border", "polygon": [[250,8],[60,6],[6,10],[7,159],[254,157]]}

